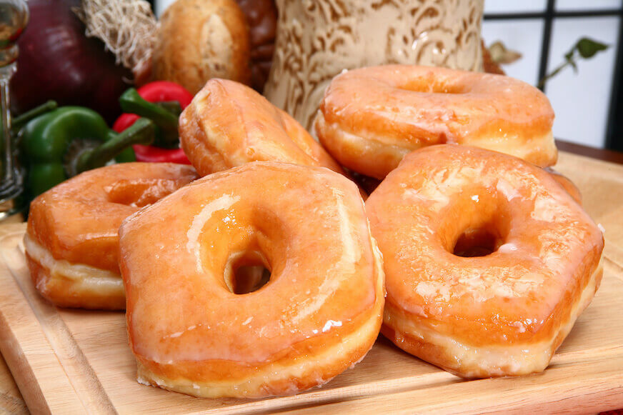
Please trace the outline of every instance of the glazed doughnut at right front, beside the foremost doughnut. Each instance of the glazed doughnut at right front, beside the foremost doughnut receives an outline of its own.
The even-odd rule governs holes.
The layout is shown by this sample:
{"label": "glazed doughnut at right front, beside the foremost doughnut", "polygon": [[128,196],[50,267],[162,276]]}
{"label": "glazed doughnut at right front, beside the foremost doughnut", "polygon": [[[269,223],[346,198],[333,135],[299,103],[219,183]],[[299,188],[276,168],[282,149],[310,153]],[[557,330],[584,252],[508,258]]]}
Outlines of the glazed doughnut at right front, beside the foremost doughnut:
{"label": "glazed doughnut at right front, beside the foremost doughnut", "polygon": [[366,209],[387,277],[382,333],[459,376],[544,370],[602,279],[601,231],[512,156],[414,151]]}

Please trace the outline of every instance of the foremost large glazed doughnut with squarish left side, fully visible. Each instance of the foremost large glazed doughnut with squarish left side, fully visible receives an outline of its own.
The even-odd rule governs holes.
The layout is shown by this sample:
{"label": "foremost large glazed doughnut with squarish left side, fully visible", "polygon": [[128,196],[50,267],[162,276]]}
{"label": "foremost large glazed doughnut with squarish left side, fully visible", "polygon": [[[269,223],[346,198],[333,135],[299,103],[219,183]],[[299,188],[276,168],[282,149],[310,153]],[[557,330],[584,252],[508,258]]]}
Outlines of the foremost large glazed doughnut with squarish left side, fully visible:
{"label": "foremost large glazed doughnut with squarish left side, fully visible", "polygon": [[[211,174],[119,232],[141,384],[294,394],[357,363],[379,334],[382,257],[357,186],[328,169],[254,162]],[[265,267],[268,283],[241,287],[241,266]]]}

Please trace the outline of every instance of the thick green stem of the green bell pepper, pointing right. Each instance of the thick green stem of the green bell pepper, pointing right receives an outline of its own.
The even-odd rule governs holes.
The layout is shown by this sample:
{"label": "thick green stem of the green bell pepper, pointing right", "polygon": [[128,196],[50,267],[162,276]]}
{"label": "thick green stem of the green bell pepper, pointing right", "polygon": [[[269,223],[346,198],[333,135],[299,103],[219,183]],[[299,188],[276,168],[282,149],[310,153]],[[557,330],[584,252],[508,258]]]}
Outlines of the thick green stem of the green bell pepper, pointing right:
{"label": "thick green stem of the green bell pepper, pointing right", "polygon": [[86,151],[76,159],[76,174],[82,171],[96,169],[106,165],[109,161],[133,144],[149,145],[154,142],[156,128],[149,119],[139,118],[112,139],[104,142],[95,149]]}

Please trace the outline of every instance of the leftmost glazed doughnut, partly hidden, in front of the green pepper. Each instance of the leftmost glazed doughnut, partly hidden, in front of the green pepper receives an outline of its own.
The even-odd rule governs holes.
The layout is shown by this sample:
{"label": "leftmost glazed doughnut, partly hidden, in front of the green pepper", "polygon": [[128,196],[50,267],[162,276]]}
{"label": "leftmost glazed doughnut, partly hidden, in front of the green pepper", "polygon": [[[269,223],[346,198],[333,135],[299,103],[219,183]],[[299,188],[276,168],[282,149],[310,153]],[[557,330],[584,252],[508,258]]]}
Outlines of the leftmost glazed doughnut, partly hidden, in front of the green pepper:
{"label": "leftmost glazed doughnut, partly hidden, in front of the green pepper", "polygon": [[194,169],[181,164],[115,164],[86,171],[34,199],[24,247],[41,296],[61,307],[124,309],[121,221],[194,179]]}

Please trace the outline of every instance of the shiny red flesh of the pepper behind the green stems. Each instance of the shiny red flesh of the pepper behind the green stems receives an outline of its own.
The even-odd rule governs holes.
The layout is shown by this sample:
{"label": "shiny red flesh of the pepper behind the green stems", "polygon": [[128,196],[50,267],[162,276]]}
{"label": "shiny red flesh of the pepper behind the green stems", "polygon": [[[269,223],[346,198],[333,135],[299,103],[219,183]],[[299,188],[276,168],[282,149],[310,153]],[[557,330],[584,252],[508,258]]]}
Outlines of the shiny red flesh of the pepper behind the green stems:
{"label": "shiny red flesh of the pepper behind the green stems", "polygon": [[[183,86],[169,81],[155,81],[145,84],[136,90],[139,95],[149,102],[178,101],[181,109],[186,108],[192,101],[192,94],[186,91]],[[136,114],[121,114],[114,122],[112,129],[117,132],[124,131],[134,121],[139,119]],[[161,149],[155,146],[132,146],[136,154],[136,161],[146,161],[149,163],[178,163],[190,164],[188,157],[182,149]]]}

